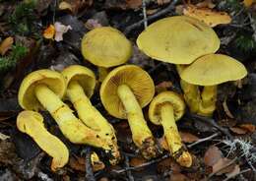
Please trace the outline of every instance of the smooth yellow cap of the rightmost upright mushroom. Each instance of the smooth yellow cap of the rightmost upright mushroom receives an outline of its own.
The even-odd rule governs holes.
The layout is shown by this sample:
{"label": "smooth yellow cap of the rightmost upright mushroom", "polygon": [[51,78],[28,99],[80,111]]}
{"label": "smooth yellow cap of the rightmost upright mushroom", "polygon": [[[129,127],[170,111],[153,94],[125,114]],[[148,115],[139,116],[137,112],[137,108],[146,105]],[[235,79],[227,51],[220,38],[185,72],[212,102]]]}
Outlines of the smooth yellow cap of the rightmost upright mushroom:
{"label": "smooth yellow cap of the rightmost upright mushroom", "polygon": [[209,54],[198,58],[185,68],[180,77],[198,86],[215,86],[244,78],[247,71],[237,60],[223,54]]}

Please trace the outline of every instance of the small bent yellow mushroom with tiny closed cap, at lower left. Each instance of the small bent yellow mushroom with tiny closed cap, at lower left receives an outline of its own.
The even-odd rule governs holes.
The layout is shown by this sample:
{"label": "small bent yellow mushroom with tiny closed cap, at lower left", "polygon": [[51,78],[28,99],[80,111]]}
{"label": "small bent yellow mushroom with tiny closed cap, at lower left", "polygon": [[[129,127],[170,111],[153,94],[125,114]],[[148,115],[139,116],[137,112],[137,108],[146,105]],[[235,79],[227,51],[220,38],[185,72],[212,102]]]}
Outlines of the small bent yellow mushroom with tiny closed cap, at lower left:
{"label": "small bent yellow mushroom with tiny closed cap, at lower left", "polygon": [[30,135],[39,148],[52,157],[51,170],[56,171],[68,162],[67,147],[45,129],[43,117],[39,113],[30,110],[20,112],[17,127],[21,132]]}

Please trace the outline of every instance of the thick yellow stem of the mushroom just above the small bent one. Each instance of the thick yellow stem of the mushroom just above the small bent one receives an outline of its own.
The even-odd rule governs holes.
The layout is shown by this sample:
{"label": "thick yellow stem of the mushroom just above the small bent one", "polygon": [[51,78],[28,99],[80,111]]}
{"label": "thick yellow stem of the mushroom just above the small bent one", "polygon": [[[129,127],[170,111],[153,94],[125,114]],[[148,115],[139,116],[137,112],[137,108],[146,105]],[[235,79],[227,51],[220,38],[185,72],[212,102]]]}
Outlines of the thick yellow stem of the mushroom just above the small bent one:
{"label": "thick yellow stem of the mushroom just above the small bent one", "polygon": [[42,106],[49,111],[59,125],[63,135],[74,144],[88,144],[94,147],[109,149],[104,140],[95,131],[85,126],[73,111],[46,85],[34,88],[35,96]]}

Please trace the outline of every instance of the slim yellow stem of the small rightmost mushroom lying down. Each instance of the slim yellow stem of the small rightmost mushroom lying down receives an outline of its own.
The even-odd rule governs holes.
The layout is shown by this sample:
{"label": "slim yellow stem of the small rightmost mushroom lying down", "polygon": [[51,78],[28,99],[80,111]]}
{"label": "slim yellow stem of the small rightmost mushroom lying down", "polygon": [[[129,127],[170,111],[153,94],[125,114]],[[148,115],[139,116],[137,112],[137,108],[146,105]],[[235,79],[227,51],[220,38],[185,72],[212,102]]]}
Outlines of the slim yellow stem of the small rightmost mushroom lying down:
{"label": "slim yellow stem of the small rightmost mushroom lying down", "polygon": [[164,136],[166,138],[169,151],[172,152],[176,161],[185,167],[190,167],[192,157],[188,151],[184,151],[178,128],[175,123],[173,107],[169,103],[165,103],[160,107],[161,125],[163,127]]}

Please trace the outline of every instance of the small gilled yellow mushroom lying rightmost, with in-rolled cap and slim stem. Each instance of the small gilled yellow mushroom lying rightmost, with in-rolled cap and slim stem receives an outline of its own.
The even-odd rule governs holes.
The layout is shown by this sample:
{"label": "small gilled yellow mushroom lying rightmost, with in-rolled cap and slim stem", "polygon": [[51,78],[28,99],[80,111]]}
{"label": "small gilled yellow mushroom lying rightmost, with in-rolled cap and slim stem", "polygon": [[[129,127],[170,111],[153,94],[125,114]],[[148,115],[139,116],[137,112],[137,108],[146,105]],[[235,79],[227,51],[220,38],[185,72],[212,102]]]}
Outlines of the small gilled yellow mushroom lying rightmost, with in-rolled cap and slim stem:
{"label": "small gilled yellow mushroom lying rightmost, with in-rolled cap and slim stem", "polygon": [[153,98],[149,118],[157,125],[161,125],[164,137],[176,161],[185,167],[192,165],[192,157],[182,147],[181,138],[175,121],[178,121],[185,112],[185,103],[179,94],[173,91],[162,91]]}

